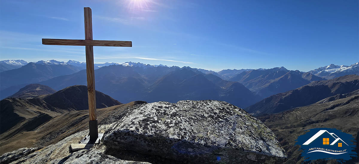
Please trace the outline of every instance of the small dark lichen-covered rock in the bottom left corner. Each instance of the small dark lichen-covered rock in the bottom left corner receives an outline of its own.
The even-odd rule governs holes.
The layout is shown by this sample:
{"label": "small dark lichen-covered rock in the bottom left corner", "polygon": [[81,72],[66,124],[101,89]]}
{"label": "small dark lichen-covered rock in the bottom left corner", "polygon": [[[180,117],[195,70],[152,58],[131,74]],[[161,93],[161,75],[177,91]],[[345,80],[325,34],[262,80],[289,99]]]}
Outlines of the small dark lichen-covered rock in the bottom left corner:
{"label": "small dark lichen-covered rock in the bottom left corner", "polygon": [[28,154],[33,153],[36,150],[41,149],[42,147],[39,148],[21,148],[18,150],[14,150],[8,153],[5,153],[3,155],[0,156],[0,163],[1,164],[8,164],[12,161],[18,160],[19,158],[22,158],[23,156],[26,156]]}

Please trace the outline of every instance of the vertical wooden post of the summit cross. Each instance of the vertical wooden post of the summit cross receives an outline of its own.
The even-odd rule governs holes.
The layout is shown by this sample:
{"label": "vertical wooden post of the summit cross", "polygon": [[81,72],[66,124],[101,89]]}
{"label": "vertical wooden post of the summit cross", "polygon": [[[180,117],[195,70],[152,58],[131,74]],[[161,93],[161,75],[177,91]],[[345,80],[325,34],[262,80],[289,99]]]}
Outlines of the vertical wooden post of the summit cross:
{"label": "vertical wooden post of the summit cross", "polygon": [[[84,8],[85,40],[92,40],[92,12],[91,8]],[[96,115],[95,95],[95,69],[93,63],[93,46],[86,45],[86,72],[87,72],[87,95],[89,101],[89,129],[90,141],[98,137],[98,123]]]}

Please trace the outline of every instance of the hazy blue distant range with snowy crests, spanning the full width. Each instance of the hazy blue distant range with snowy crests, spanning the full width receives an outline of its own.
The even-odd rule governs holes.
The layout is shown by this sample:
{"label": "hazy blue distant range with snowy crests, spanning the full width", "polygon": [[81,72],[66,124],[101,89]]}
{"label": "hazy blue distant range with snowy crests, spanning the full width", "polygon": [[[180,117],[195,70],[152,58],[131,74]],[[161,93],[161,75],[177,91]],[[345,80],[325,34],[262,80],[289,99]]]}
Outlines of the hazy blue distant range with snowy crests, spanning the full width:
{"label": "hazy blue distant range with snowy crests, spanning the full width", "polygon": [[[0,64],[4,62],[0,62]],[[15,62],[7,61],[5,63],[11,64]],[[31,62],[20,68],[1,72],[0,98],[13,95],[20,88],[31,83],[47,85],[55,90],[72,85],[86,85],[85,65],[85,62],[73,60],[68,62],[48,60],[36,63]],[[352,64],[350,67],[340,67],[342,69],[336,68],[336,66],[333,66],[333,68],[337,69],[335,71],[336,74],[340,74],[340,72],[341,74],[355,74],[358,69],[357,65],[358,63]],[[103,69],[98,71],[100,70],[99,68]],[[327,66],[326,68],[326,70],[332,70],[330,69],[332,67]],[[177,102],[177,100],[181,99],[202,100],[205,98],[228,101],[235,105],[240,105],[240,107],[246,107],[261,100],[261,98],[290,91],[313,81],[326,80],[315,75],[322,74],[317,73],[322,67],[318,68],[318,70],[316,69],[317,72],[313,72],[315,71],[313,70],[312,73],[311,71],[290,71],[284,67],[271,69],[226,69],[214,72],[200,68],[168,67],[162,64],[153,66],[143,63],[125,62],[122,64],[95,64],[95,69],[96,89],[123,102],[135,100]],[[169,73],[181,69],[188,69],[190,71],[176,72],[176,75],[170,76]],[[193,72],[200,75],[195,76]],[[209,74],[219,78],[206,76]],[[211,81],[209,78],[215,81]],[[222,79],[224,81],[216,83]],[[199,85],[201,83],[204,85]],[[171,85],[171,94],[176,95],[176,97],[168,97],[161,93],[166,92],[166,94],[169,94],[167,90],[160,86],[169,88]],[[190,86],[196,87],[192,87],[192,90],[190,90],[188,89]],[[246,88],[251,92],[248,92]],[[238,94],[239,92],[250,95],[241,97],[241,94]],[[238,96],[233,97],[233,95]],[[242,103],[246,97],[251,98],[251,100]]]}

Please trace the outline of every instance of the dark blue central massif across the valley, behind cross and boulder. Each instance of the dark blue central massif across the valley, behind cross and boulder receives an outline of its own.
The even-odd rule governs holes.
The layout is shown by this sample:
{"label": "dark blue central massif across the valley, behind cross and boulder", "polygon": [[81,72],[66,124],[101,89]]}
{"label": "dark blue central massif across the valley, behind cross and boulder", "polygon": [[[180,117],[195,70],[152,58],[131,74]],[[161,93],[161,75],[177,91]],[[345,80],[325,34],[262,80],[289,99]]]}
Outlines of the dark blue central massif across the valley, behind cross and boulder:
{"label": "dark blue central massif across the valley, behind cross and boulder", "polygon": [[[207,74],[210,76],[210,74]],[[212,82],[206,74],[190,67],[129,67],[112,65],[95,70],[96,90],[122,102],[180,100],[221,100],[246,107],[261,100],[241,84]],[[214,75],[215,76],[215,75]],[[85,85],[85,70],[41,82],[54,89]],[[232,95],[237,95],[233,97]]]}

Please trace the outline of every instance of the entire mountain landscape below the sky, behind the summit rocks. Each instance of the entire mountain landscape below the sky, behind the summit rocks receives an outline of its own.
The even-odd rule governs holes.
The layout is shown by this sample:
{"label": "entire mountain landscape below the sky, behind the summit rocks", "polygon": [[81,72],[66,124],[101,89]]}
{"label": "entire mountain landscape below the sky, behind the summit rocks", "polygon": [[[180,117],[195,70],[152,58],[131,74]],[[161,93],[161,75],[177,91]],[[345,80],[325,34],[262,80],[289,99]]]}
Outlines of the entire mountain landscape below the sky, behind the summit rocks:
{"label": "entire mountain landscape below the sky, behind the summit rocks", "polygon": [[[45,61],[27,65],[35,65],[38,72],[43,71],[39,68],[51,66],[80,68],[81,63],[78,63],[79,66],[75,65],[76,61],[70,63],[73,64]],[[28,68],[27,65],[23,67]],[[299,147],[293,145],[295,139],[307,129],[337,128],[358,139],[359,76],[355,75],[358,73],[355,72],[355,64],[333,68],[338,69],[335,71],[337,74],[351,74],[332,79],[319,76],[319,72],[325,70],[311,73],[290,71],[284,67],[213,72],[132,62],[107,65],[95,70],[97,108],[102,108],[97,110],[99,125],[118,120],[124,116],[121,111],[136,108],[146,103],[144,101],[214,99],[245,108],[269,127],[288,155],[285,163],[303,160]],[[4,72],[6,74],[8,71]],[[28,76],[31,73],[28,72]],[[1,150],[8,152],[24,146],[46,146],[87,129],[87,87],[81,86],[87,83],[85,70],[50,77],[37,83],[16,83],[8,88],[23,87],[0,101]],[[269,96],[265,97],[266,94]],[[117,100],[134,102],[122,104]]]}

